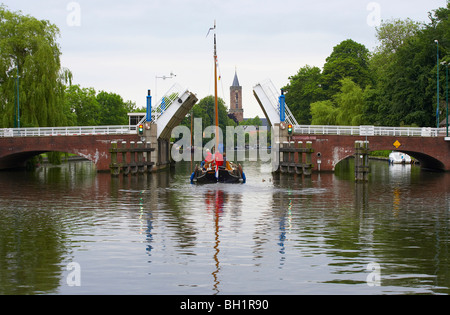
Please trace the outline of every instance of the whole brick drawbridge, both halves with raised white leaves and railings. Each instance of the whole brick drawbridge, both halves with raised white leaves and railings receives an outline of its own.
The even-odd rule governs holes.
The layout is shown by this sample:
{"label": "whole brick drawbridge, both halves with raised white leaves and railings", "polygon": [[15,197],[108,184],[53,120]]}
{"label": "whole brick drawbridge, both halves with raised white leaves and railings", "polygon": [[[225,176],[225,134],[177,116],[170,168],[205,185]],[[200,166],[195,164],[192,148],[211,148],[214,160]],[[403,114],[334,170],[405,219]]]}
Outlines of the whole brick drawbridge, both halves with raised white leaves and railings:
{"label": "whole brick drawbridge, both halves with raised white leaves and railings", "polygon": [[[341,160],[355,156],[355,143],[361,141],[368,141],[367,151],[396,150],[416,158],[423,168],[450,171],[445,128],[299,125],[270,80],[256,84],[253,94],[273,128],[274,160],[289,172],[334,171]],[[51,151],[82,156],[98,171],[164,168],[170,163],[172,129],[196,102],[195,94],[175,84],[137,125],[0,129],[0,169],[23,167],[31,157]]]}

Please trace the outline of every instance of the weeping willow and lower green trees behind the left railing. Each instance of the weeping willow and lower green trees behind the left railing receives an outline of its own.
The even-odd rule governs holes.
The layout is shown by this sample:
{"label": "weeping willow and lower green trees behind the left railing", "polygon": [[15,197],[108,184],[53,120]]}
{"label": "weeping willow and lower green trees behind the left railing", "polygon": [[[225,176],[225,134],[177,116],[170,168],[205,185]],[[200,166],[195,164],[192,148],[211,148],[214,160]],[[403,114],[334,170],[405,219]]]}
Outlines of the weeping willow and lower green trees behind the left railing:
{"label": "weeping willow and lower green trees behind the left railing", "polygon": [[[135,104],[107,92],[71,85],[61,68],[59,29],[0,5],[0,127],[126,125]],[[19,97],[17,76],[19,75]]]}

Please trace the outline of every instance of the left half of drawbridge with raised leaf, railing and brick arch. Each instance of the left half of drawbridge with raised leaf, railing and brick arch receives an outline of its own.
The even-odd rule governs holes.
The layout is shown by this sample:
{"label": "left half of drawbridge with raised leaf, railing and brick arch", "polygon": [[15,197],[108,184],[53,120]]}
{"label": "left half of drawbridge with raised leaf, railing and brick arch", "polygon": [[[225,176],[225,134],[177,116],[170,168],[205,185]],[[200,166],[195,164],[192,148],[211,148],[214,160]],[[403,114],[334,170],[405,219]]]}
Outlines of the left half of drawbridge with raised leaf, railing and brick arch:
{"label": "left half of drawbridge with raised leaf, railing and brick arch", "polygon": [[193,93],[175,84],[137,125],[0,129],[0,170],[25,167],[33,156],[51,151],[84,157],[97,171],[164,168],[170,163],[171,131],[196,102]]}

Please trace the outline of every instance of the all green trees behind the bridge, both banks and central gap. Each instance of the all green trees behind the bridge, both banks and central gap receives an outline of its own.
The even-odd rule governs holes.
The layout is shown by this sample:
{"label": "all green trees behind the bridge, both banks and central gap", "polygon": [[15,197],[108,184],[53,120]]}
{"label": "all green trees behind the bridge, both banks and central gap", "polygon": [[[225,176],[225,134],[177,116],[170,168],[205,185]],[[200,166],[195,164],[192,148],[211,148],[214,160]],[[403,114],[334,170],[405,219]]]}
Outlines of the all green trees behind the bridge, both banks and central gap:
{"label": "all green trees behind the bridge, both banks and central gap", "polygon": [[[447,3],[446,8],[429,13],[428,23],[382,21],[376,29],[379,44],[374,51],[347,39],[333,48],[322,69],[301,67],[284,87],[297,121],[435,126],[436,55],[450,63],[449,14]],[[72,73],[61,66],[59,36],[58,27],[50,21],[0,5],[0,128],[127,124],[127,113],[139,110],[135,103],[113,92],[73,84]],[[445,117],[445,66],[440,71],[440,117]],[[207,96],[193,108],[192,114],[203,119],[203,126],[214,124],[212,101]],[[220,100],[223,129],[236,125],[226,113]],[[183,124],[190,125],[189,115]]]}

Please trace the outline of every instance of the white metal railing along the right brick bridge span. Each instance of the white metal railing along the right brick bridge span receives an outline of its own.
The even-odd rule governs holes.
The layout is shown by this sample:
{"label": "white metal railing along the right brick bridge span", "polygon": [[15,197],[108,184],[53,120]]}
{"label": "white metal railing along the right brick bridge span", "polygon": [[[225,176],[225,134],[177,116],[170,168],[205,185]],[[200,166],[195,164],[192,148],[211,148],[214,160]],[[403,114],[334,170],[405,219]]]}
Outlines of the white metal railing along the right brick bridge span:
{"label": "white metal railing along the right brick bridge span", "polygon": [[445,136],[445,128],[378,127],[378,126],[317,126],[295,125],[294,133],[307,135],[351,135],[351,136]]}

